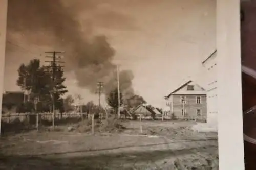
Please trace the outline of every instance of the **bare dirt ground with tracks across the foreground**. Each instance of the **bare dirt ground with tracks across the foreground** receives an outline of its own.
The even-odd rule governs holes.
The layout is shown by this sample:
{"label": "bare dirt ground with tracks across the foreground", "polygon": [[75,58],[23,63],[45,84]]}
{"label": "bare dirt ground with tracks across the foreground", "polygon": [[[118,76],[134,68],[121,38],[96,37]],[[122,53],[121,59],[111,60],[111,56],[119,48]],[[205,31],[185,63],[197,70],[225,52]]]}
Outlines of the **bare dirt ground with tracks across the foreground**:
{"label": "bare dirt ground with tracks across the foreground", "polygon": [[[124,129],[31,131],[0,140],[0,169],[218,169],[217,133],[190,122],[122,122]],[[106,128],[108,127],[108,128]],[[111,133],[109,133],[111,132]]]}

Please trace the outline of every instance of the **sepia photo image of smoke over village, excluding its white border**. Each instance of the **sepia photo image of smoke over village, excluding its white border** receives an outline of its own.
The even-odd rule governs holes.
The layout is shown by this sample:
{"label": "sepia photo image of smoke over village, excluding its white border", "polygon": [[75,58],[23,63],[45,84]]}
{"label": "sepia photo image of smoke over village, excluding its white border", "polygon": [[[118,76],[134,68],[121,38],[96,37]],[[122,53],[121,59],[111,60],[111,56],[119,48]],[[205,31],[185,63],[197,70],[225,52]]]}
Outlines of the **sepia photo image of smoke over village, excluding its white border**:
{"label": "sepia photo image of smoke over village, excluding its white border", "polygon": [[0,169],[219,169],[217,53],[215,0],[9,0]]}

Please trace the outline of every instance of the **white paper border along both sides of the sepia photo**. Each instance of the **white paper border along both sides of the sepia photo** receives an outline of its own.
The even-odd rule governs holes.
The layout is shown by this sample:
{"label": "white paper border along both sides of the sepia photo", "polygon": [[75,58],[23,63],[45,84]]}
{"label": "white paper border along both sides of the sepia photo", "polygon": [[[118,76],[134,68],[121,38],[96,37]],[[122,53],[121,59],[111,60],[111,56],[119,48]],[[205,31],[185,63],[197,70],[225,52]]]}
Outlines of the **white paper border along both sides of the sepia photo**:
{"label": "white paper border along both sides of the sepia photo", "polygon": [[[0,0],[0,103],[4,86],[7,1]],[[221,170],[244,169],[239,18],[239,0],[217,0],[218,129]]]}

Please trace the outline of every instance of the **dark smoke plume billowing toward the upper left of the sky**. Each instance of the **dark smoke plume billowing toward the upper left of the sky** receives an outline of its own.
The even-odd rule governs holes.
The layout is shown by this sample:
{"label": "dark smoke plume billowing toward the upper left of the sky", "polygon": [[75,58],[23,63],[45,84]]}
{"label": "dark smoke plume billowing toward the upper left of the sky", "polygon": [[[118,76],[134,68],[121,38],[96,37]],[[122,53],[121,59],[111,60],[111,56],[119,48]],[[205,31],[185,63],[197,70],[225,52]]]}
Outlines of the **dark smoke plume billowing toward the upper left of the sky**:
{"label": "dark smoke plume billowing toward the upper left of the sky", "polygon": [[[98,4],[95,2],[95,0],[9,0],[7,35],[22,34],[24,41],[38,46],[61,46],[66,51],[65,69],[75,72],[80,87],[95,92],[96,82],[103,81],[108,92],[116,87],[116,75],[113,75],[116,66],[112,63],[115,50],[108,43],[106,36],[94,34],[92,24],[94,18],[84,21],[83,27],[78,21],[79,12],[85,10],[90,13],[97,10]],[[126,20],[127,26],[132,25],[131,18],[119,15],[117,12],[107,11],[100,14],[106,16],[105,19],[101,18],[103,24],[107,24],[105,20],[109,19],[108,24],[113,23],[114,26],[115,21],[110,20],[112,16],[117,22]],[[100,14],[96,16],[99,17]],[[131,71],[120,72],[120,86],[123,93],[133,93],[132,79]]]}

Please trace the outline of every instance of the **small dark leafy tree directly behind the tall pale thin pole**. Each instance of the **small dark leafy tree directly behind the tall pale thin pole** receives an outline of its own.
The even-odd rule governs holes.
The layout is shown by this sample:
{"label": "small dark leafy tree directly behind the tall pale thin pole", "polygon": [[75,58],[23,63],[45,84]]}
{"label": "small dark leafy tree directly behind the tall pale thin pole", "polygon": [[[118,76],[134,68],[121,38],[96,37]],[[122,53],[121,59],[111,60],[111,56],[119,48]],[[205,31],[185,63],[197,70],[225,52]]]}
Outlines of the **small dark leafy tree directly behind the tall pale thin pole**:
{"label": "small dark leafy tree directly behind the tall pale thin pole", "polygon": [[[117,113],[118,109],[118,89],[115,88],[113,91],[110,92],[109,96],[107,97],[107,102],[110,107],[115,109],[115,112]],[[119,106],[123,104],[123,96],[122,93],[120,93],[120,103]]]}

